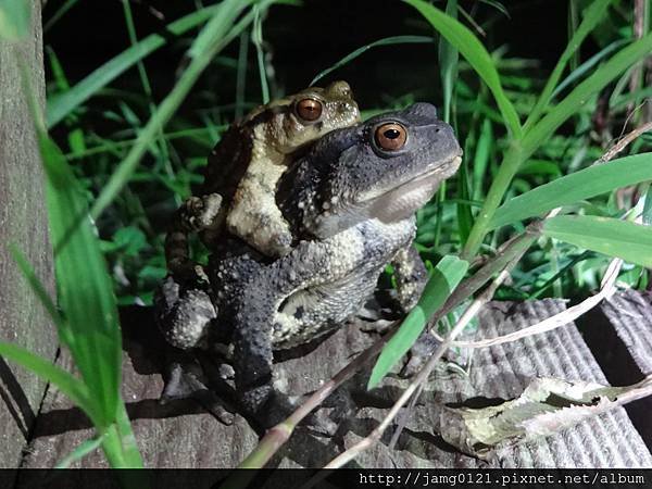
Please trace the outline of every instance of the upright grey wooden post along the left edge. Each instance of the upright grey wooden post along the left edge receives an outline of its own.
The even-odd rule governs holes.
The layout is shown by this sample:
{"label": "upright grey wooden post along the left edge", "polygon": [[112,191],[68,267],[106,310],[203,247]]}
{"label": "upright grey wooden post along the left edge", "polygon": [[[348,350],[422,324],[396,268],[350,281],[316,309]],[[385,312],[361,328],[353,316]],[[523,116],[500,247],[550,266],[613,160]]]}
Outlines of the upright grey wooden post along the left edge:
{"label": "upright grey wooden post along the left edge", "polygon": [[[34,122],[23,92],[23,64],[38,106],[45,105],[39,0],[33,0],[32,29],[20,42],[0,40],[0,341],[54,359],[57,334],[17,269],[8,246],[15,244],[53,292],[52,254]],[[45,383],[0,359],[0,467],[15,467],[43,396]]]}

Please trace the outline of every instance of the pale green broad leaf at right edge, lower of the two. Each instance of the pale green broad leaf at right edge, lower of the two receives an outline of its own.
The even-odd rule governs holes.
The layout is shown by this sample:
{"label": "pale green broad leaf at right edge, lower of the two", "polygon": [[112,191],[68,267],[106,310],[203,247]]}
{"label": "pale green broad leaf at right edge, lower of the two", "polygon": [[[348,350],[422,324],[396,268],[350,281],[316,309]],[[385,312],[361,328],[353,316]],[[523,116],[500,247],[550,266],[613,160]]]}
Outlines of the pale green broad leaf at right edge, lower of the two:
{"label": "pale green broad leaf at right edge, lower of the two", "polygon": [[651,226],[612,217],[561,215],[544,221],[543,235],[652,267]]}

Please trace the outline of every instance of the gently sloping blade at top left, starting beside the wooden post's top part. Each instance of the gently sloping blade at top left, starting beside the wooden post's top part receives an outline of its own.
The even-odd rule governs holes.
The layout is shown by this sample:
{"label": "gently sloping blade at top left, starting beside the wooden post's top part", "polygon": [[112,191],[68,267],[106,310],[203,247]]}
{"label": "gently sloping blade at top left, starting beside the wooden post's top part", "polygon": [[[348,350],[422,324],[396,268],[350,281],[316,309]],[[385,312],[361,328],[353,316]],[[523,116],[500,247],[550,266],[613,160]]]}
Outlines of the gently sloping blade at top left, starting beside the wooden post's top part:
{"label": "gently sloping blade at top left, starting beside the wooden post's top part", "polygon": [[[220,7],[221,4],[211,5],[188,14],[171,23],[167,26],[167,30],[175,36],[180,36],[181,34],[211,18],[211,16],[214,15],[215,11],[218,10]],[[51,97],[48,100],[46,117],[48,127],[53,127],[60,123],[72,111],[96,95],[98,90],[109,85],[124,72],[129,70],[131,66],[151,54],[156,49],[164,46],[167,40],[163,36],[152,34],[142,39],[136,46],[126,49],[112,60],[104,63],[70,90]]]}

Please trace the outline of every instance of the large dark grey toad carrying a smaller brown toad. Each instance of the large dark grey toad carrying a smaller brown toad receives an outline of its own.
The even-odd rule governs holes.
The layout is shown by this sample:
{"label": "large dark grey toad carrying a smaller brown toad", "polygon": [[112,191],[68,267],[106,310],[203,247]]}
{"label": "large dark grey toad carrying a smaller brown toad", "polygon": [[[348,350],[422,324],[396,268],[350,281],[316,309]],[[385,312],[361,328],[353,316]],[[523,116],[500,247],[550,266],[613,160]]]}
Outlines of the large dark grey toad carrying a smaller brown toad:
{"label": "large dark grey toad carrying a smaller brown toad", "polygon": [[414,304],[426,278],[412,248],[414,212],[454,174],[461,155],[452,128],[427,103],[327,134],[277,189],[292,251],[271,260],[225,239],[208,266],[210,290],[192,292],[192,304],[164,326],[167,340],[189,349],[229,338],[242,406],[273,425],[287,414],[275,409],[285,397],[274,387],[274,349],[342,325],[390,262],[399,298]]}

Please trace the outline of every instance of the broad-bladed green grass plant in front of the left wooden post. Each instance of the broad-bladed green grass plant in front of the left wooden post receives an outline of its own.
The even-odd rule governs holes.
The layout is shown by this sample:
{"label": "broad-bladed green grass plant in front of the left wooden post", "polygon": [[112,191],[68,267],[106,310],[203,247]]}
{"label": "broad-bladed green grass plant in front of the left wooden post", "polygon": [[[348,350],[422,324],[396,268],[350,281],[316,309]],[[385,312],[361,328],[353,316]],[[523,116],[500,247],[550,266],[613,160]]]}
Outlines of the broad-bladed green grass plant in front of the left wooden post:
{"label": "broad-bladed green grass plant in front of the left wooden post", "polygon": [[[52,239],[61,246],[54,264],[60,314],[23,255],[13,255],[34,292],[58,327],[59,338],[75,361],[82,378],[20,347],[0,343],[0,354],[54,384],[92,421],[98,443],[83,444],[70,464],[101,446],[114,467],[141,467],[125,408],[121,400],[122,337],[111,278],[96,233],[88,220],[75,227],[74,216],[87,212],[78,184],[59,148],[39,130],[47,174],[47,202]],[[67,229],[73,229],[64,237]]]}

